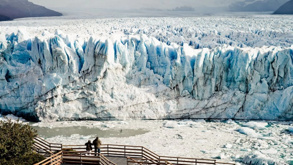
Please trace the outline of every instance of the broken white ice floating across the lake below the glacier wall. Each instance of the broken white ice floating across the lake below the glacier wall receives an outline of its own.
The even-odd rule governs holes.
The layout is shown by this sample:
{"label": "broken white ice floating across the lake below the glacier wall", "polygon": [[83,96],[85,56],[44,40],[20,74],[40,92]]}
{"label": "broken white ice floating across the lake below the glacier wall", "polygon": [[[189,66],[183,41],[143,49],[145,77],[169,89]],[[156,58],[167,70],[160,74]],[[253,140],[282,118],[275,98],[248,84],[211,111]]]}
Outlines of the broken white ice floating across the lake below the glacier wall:
{"label": "broken white ice floating across the lake below the glacier wall", "polygon": [[[16,117],[11,116],[12,119]],[[0,117],[0,120],[3,117]],[[26,123],[25,120],[22,120]],[[290,126],[291,125],[291,126]],[[293,162],[293,122],[249,120],[133,120],[35,123],[34,127],[86,127],[101,130],[142,129],[131,137],[100,137],[103,143],[144,146],[159,155],[214,158],[219,162],[273,165]],[[51,143],[83,145],[97,135],[72,134],[46,138]],[[273,162],[273,163],[270,163]],[[287,163],[288,164],[288,163]]]}

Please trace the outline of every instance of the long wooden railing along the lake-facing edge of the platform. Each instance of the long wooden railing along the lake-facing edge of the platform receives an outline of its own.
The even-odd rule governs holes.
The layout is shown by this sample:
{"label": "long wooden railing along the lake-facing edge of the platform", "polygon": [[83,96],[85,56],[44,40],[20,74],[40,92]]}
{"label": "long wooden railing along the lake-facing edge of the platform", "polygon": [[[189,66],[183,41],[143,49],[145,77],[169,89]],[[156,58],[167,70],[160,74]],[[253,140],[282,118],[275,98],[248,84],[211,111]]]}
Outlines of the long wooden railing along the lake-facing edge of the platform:
{"label": "long wooden railing along the lake-facing edge of the platform", "polygon": [[[56,144],[56,143],[49,143],[46,140],[43,140],[39,137],[35,138],[35,142],[36,142],[34,144],[35,150],[39,153],[47,153],[49,154],[49,156],[52,155],[53,151],[61,150],[63,151],[62,154],[66,155],[67,157],[70,156],[70,157],[79,158],[79,163],[80,163],[80,160],[82,160],[83,158],[84,160],[87,160],[89,158],[94,159],[93,156],[85,156],[86,149],[84,145],[62,145],[62,144]],[[66,150],[74,150],[75,152],[70,152]],[[92,155],[93,154],[94,153],[92,153]],[[234,163],[216,162],[216,160],[214,159],[197,159],[197,158],[160,156],[142,146],[126,146],[126,145],[113,145],[113,144],[101,145],[101,154],[98,154],[99,163],[101,163],[101,165],[115,165],[113,162],[110,162],[103,155],[132,158],[133,160],[130,160],[130,161],[137,160],[135,158],[146,159],[147,161],[153,164],[160,163],[160,160],[163,160],[163,161],[167,161],[168,163],[171,163],[171,165],[224,165],[224,164],[235,165]],[[88,163],[96,164],[95,162],[88,162]]]}

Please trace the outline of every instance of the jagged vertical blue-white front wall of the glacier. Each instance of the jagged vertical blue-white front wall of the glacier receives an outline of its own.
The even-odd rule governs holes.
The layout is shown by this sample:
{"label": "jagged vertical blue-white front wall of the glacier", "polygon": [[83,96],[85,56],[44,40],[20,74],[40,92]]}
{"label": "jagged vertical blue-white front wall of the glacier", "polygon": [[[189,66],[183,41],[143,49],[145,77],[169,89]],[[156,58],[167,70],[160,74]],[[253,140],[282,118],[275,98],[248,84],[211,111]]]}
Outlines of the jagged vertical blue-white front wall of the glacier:
{"label": "jagged vertical blue-white front wall of the glacier", "polygon": [[0,34],[0,110],[29,120],[292,120],[293,46]]}

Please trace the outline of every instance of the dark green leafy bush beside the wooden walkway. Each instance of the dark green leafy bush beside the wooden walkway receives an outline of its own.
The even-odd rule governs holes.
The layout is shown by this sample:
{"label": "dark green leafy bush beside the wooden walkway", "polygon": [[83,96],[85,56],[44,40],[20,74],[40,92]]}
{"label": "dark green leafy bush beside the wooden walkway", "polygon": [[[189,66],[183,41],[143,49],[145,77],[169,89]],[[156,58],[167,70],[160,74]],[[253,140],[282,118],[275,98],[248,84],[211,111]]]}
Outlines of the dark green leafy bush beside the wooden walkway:
{"label": "dark green leafy bush beside the wooden walkway", "polygon": [[28,165],[40,162],[43,156],[32,151],[36,130],[19,120],[0,121],[0,164]]}

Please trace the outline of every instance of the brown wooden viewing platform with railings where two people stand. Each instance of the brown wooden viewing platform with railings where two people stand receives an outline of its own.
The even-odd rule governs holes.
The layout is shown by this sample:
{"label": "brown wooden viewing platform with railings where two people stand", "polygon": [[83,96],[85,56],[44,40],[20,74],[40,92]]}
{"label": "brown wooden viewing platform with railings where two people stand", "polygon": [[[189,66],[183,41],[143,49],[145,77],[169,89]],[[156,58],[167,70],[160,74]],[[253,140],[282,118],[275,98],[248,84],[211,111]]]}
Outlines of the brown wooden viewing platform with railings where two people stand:
{"label": "brown wooden viewing platform with railings where two people stand", "polygon": [[100,154],[86,156],[84,145],[49,143],[40,137],[34,140],[33,149],[46,157],[34,165],[235,165],[214,159],[159,156],[142,146],[113,144],[103,144]]}

